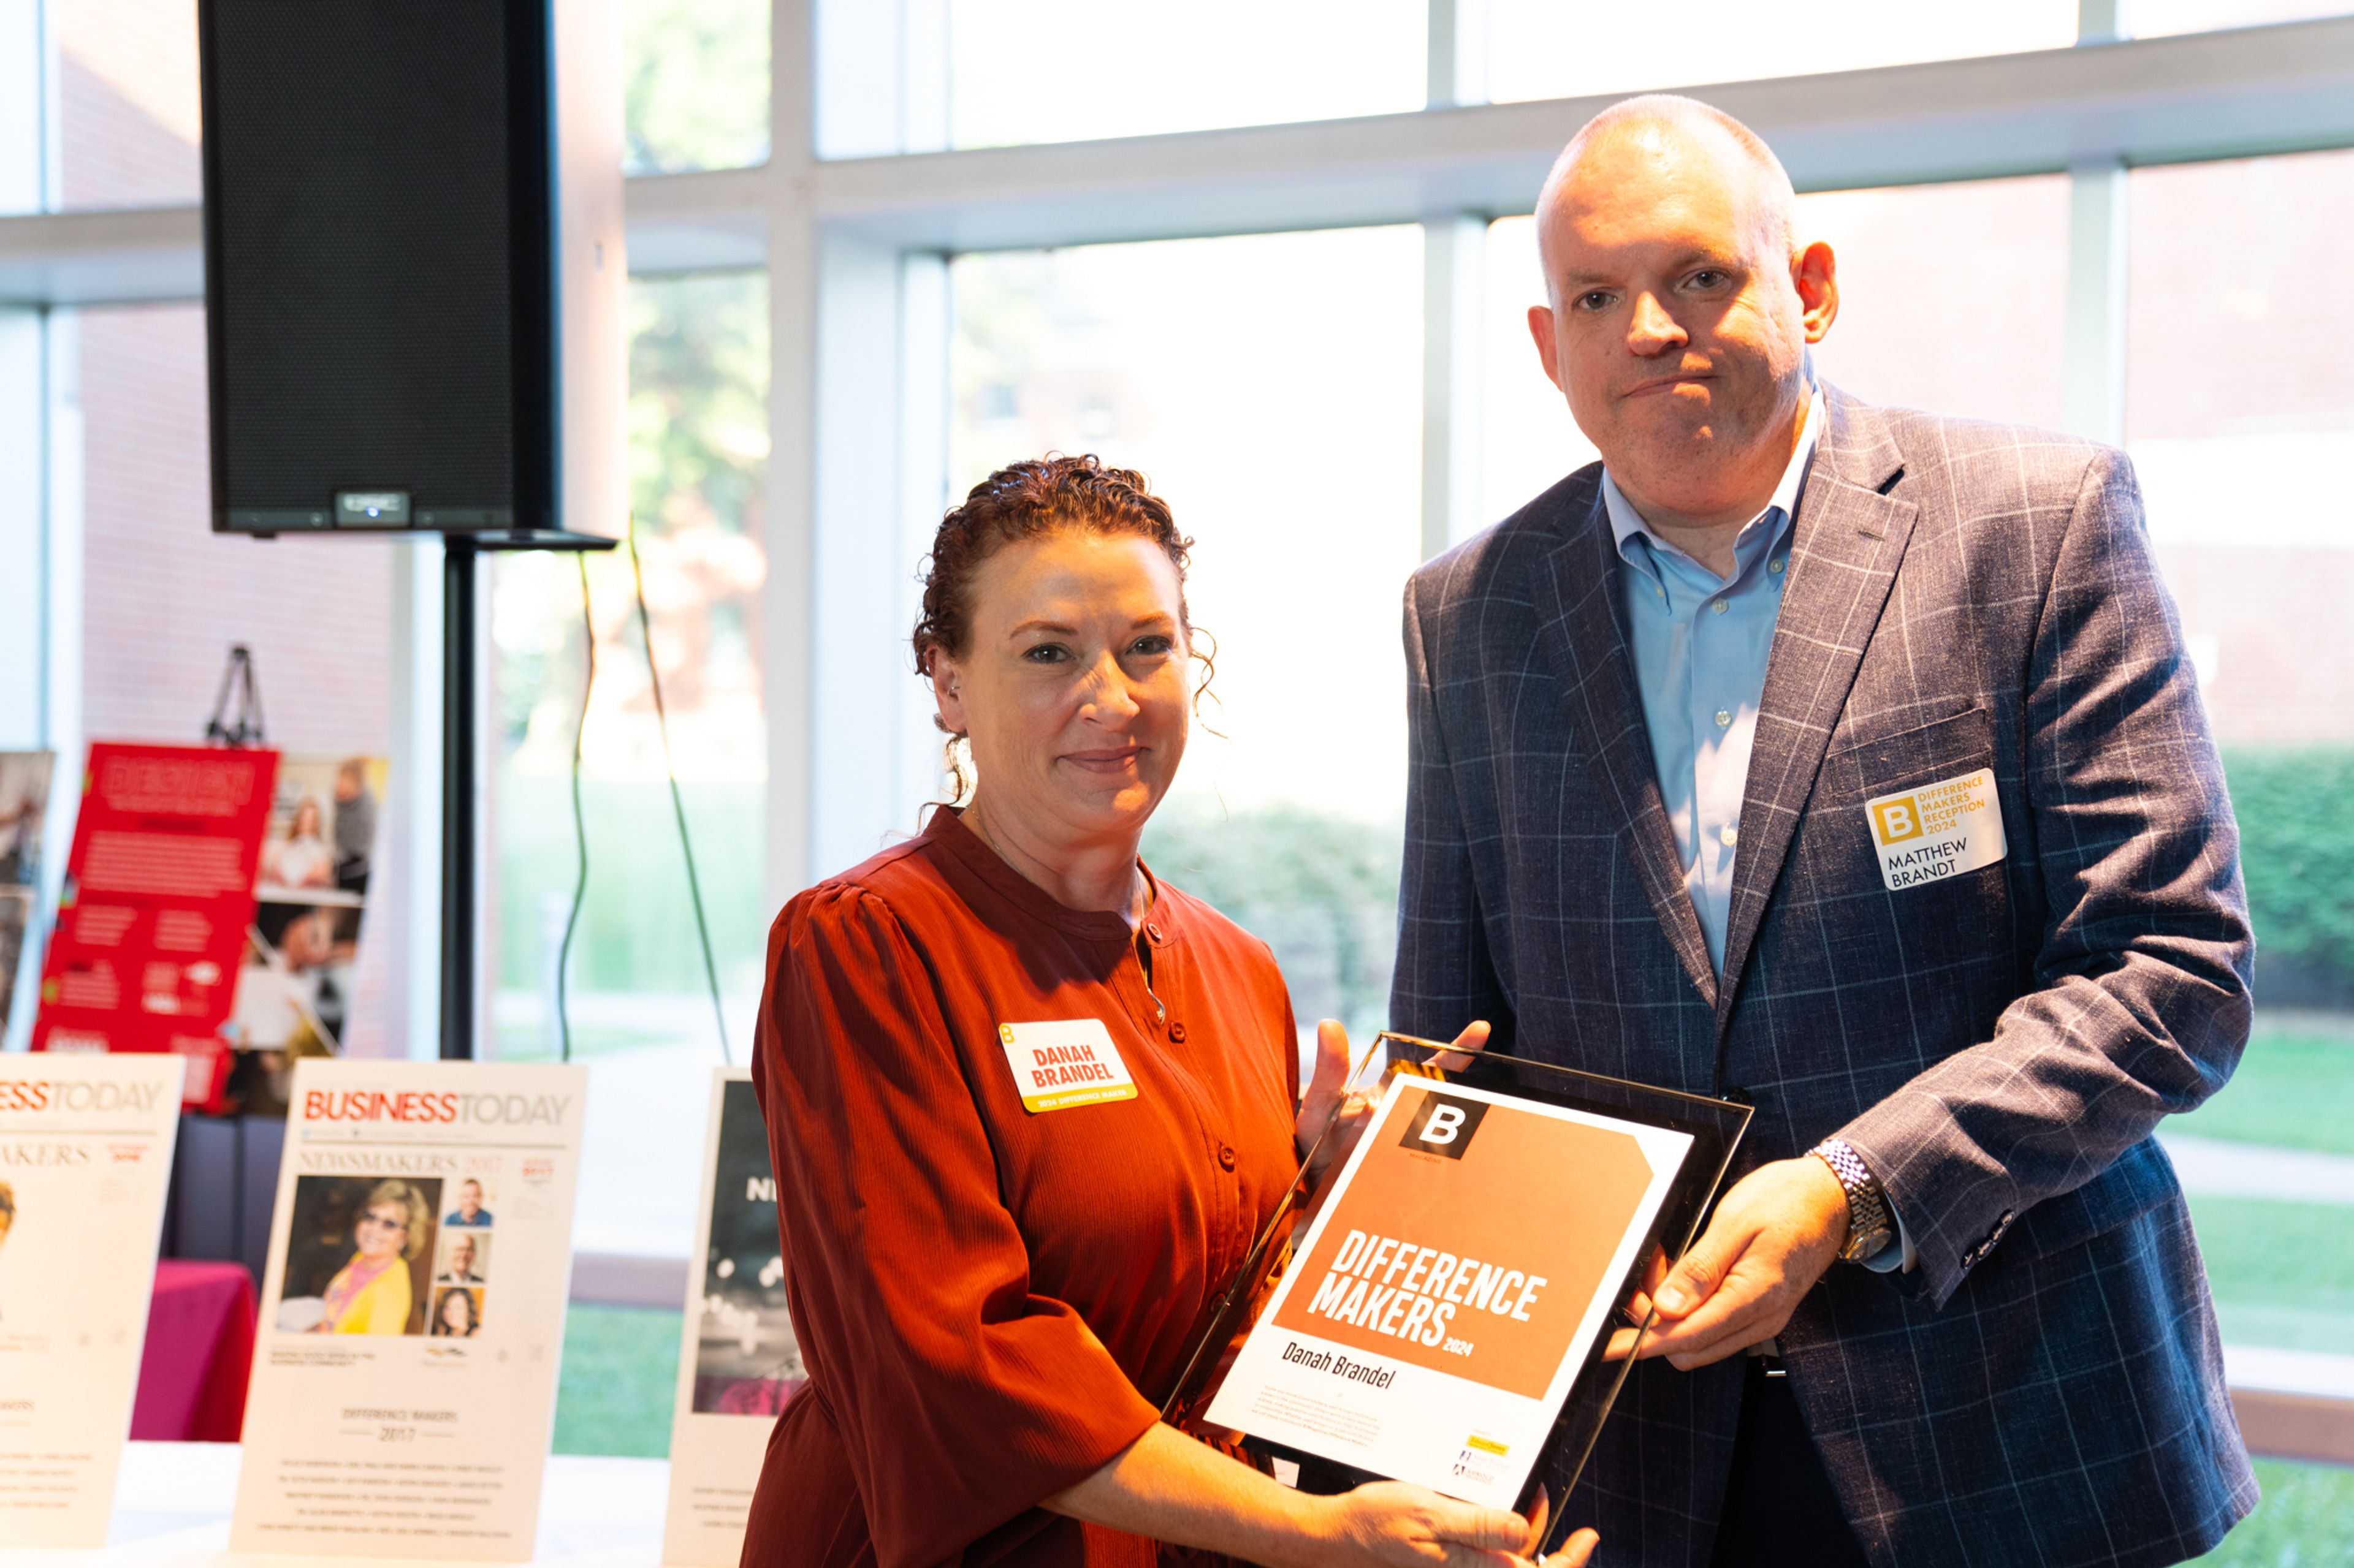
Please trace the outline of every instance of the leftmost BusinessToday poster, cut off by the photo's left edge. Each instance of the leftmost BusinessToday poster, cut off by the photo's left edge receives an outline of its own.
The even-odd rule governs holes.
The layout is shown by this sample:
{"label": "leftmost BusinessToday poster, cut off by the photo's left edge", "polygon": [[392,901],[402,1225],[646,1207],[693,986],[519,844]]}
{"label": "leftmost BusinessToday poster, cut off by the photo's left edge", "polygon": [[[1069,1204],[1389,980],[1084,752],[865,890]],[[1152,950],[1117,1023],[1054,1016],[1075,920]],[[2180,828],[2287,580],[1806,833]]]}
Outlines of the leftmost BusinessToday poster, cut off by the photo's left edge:
{"label": "leftmost BusinessToday poster, cut off by the photo's left edge", "polygon": [[181,1057],[0,1055],[0,1542],[104,1547]]}

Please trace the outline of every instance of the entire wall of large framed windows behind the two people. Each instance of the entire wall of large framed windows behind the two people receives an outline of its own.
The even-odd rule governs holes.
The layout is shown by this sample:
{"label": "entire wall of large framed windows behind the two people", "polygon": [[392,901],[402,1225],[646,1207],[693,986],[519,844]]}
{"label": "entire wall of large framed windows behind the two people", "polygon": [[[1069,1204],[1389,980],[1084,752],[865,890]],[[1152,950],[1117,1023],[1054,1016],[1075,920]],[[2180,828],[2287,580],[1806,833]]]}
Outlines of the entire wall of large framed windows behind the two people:
{"label": "entire wall of large framed windows behind the two people", "polygon": [[[2333,483],[2354,459],[2354,360],[2338,351],[2354,313],[2330,283],[2354,240],[2354,151],[2168,162],[2354,148],[2354,120],[2330,120],[2309,85],[2347,31],[2314,19],[2347,12],[1834,0],[1794,21],[1695,0],[1662,24],[1655,7],[1554,0],[621,0],[631,212],[659,240],[636,254],[723,268],[765,245],[779,287],[772,306],[767,273],[633,285],[652,664],[626,553],[586,563],[588,626],[570,558],[485,570],[487,1038],[508,1059],[558,1050],[591,650],[598,669],[581,732],[591,883],[570,963],[572,1045],[596,1081],[579,1245],[685,1248],[718,1059],[652,673],[742,1057],[777,902],[850,845],[913,829],[902,753],[923,695],[902,673],[904,617],[878,605],[906,603],[911,534],[939,497],[1017,457],[1092,450],[1139,466],[1198,539],[1191,600],[1217,638],[1217,699],[1146,852],[1274,942],[1302,1022],[1377,1024],[1403,796],[1401,582],[1594,457],[1523,325],[1542,278],[1516,212],[1547,139],[1570,127],[1528,139],[1544,111],[1412,111],[1810,75],[1775,99],[1777,127],[1806,127],[1801,177],[1806,148],[1820,167],[1824,146],[1855,151],[1838,139],[1871,125],[1876,162],[1836,179],[1886,181],[1801,200],[1846,294],[1822,374],[1881,403],[2079,424],[2130,447],[2225,749],[2260,935],[2246,1062],[2163,1137],[2234,1382],[2354,1396],[2354,859],[2335,829],[2354,817],[2340,612],[2354,516]],[[807,47],[777,59],[817,61],[817,75],[772,85],[772,28],[800,16]],[[1431,82],[1434,16],[1441,49],[1455,31],[1452,89]],[[2064,71],[2001,59],[2109,24],[2170,38],[2086,49]],[[2199,38],[2213,28],[2239,31]],[[1897,94],[1888,78],[1836,75],[1933,61]],[[2279,106],[2234,85],[2248,73],[2283,87]],[[2123,87],[2135,108],[2048,85],[2062,78]],[[2010,94],[2017,113],[1977,148],[1989,162],[1956,162],[1954,115]],[[1346,122],[1363,115],[1396,120]],[[186,214],[198,118],[195,0],[0,5],[0,214]],[[1311,120],[1344,125],[1248,129]],[[845,160],[803,162],[803,125],[819,155]],[[1151,148],[1036,146],[1210,129],[1222,134]],[[659,184],[701,170],[730,174]],[[1959,170],[2015,177],[1919,184]],[[1427,226],[1401,226],[1415,219]],[[181,219],[92,233],[167,245],[174,224],[193,233]],[[85,292],[54,292],[42,268],[71,268],[59,247],[82,242],[59,235],[0,217],[5,299],[31,306],[0,323],[0,407],[45,419],[9,445],[45,461],[0,464],[0,490],[16,487],[0,497],[0,586],[42,553],[45,586],[7,603],[49,596],[52,732],[191,737],[226,643],[247,640],[273,739],[384,749],[398,662],[431,664],[431,633],[398,617],[428,607],[428,553],[212,539],[193,242],[181,283],[141,273],[108,292],[120,252],[108,261],[115,240],[89,240]],[[75,301],[106,304],[47,308]],[[2090,396],[2119,384],[2121,428],[2095,412],[2116,400]],[[35,513],[40,527],[14,523]],[[873,673],[885,662],[890,702]],[[845,760],[869,730],[895,746],[892,803],[862,815],[885,793]],[[393,789],[424,784],[395,775]],[[395,923],[386,913],[372,930]],[[398,982],[388,951],[363,951],[379,968],[360,979],[355,1050],[421,1038],[393,1038],[398,1008],[377,1005]],[[588,1424],[565,1417],[560,1446],[659,1453],[657,1363],[676,1323],[581,1314],[577,1328],[565,1408],[586,1410],[584,1389],[603,1406]],[[2333,1561],[2354,1516],[2345,1471],[2267,1462],[2262,1476],[2262,1511],[2215,1561]]]}

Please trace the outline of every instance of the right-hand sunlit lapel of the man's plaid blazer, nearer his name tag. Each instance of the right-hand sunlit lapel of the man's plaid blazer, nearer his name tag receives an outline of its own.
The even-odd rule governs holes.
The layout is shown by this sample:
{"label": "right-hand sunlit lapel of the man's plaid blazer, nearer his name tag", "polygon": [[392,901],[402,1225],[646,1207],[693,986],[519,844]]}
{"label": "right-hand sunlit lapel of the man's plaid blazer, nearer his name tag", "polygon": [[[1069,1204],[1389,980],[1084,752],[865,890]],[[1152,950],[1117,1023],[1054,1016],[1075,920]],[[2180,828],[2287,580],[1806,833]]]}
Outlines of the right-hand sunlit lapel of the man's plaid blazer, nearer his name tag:
{"label": "right-hand sunlit lapel of the man's plaid blazer, nearer his name tag", "polygon": [[1725,977],[1716,994],[1718,1052],[1798,812],[1815,789],[1831,725],[1848,704],[1914,525],[1914,504],[1886,494],[1904,457],[1878,412],[1836,388],[1824,388],[1824,400],[1829,428],[1815,447],[1791,527],[1789,586],[1766,657],[1766,695],[1742,791]]}

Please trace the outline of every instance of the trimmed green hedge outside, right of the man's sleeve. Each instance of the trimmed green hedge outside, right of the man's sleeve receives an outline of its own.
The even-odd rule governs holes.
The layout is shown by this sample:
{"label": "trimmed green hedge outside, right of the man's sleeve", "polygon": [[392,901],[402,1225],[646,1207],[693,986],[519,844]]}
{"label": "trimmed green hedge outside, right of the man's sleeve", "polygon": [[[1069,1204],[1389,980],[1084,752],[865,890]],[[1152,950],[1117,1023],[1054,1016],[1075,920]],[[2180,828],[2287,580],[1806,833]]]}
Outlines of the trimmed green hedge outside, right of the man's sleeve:
{"label": "trimmed green hedge outside, right of the man's sleeve", "polygon": [[2354,746],[2225,753],[2267,970],[2354,994]]}

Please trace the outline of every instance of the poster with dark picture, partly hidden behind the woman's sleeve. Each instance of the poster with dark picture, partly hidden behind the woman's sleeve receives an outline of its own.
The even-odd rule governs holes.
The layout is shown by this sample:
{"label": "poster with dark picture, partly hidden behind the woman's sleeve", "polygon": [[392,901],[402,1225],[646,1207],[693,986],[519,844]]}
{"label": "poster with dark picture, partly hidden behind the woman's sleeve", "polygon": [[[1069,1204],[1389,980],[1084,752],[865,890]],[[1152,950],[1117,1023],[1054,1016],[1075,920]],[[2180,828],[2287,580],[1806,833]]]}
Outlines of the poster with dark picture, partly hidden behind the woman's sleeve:
{"label": "poster with dark picture, partly hidden behind the woman's sleeve", "polygon": [[711,1078],[697,1215],[704,1267],[687,1281],[661,1561],[734,1568],[767,1434],[807,1382],[784,1304],[767,1128],[742,1067]]}

